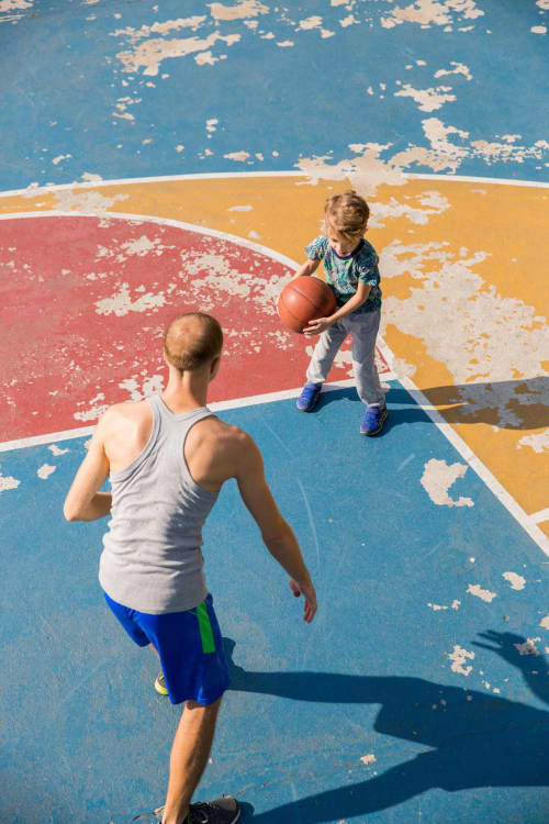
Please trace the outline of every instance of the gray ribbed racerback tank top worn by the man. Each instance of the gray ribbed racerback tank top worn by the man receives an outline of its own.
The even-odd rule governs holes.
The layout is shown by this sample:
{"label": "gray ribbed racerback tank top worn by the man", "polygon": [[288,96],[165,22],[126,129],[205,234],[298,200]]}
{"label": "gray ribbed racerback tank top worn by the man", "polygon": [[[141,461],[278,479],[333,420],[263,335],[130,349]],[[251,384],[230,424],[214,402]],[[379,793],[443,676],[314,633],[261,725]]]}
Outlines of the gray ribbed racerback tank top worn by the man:
{"label": "gray ribbed racerback tank top worn by the man", "polygon": [[217,492],[192,479],[183,448],[208,407],[176,415],[147,398],[153,432],[127,467],[111,472],[112,519],[103,537],[99,580],[114,601],[139,612],[191,610],[208,594],[202,526]]}

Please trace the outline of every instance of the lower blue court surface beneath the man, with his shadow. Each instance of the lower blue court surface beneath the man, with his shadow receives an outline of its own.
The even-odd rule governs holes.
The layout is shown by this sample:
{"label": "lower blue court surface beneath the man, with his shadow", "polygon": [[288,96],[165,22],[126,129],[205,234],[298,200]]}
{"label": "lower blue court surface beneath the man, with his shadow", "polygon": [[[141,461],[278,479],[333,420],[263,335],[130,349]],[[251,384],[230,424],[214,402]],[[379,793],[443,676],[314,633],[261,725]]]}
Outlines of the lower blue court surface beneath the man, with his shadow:
{"label": "lower blue court surface beneath the man, with his shadow", "polygon": [[[293,399],[220,412],[259,444],[320,610],[305,625],[228,483],[204,554],[233,684],[198,794],[232,792],[260,824],[542,824],[545,556],[390,386],[378,438],[358,435],[352,389],[313,415]],[[179,711],[96,583],[104,523],[59,516],[86,439],[0,455],[20,481],[0,497],[2,822],[128,824],[164,801]],[[440,502],[426,466],[452,465]]]}

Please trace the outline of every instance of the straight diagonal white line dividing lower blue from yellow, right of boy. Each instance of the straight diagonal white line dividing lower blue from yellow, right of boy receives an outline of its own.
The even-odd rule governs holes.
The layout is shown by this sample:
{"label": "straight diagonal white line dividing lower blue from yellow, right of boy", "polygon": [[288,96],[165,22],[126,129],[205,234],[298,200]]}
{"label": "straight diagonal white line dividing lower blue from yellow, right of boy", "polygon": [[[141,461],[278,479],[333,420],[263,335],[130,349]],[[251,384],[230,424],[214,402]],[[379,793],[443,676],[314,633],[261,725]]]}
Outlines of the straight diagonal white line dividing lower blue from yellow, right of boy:
{"label": "straight diagonal white line dividing lower blue from yellow, right of boy", "polygon": [[[377,345],[389,366],[392,367],[394,361],[393,353],[379,335]],[[466,444],[460,435],[458,435],[458,433],[452,428],[451,424],[449,424],[448,421],[442,417],[440,412],[429,403],[427,398],[416,387],[416,385],[410,378],[404,376],[399,377],[399,380],[402,386],[410,392],[417,405],[424,410],[424,412],[430,417],[433,423],[440,430],[442,435],[445,435],[445,437],[450,442],[453,448],[461,455],[464,460],[467,460],[471,469],[473,469],[477,475],[484,481],[490,491],[494,493],[494,495],[501,503],[503,503],[505,509],[511,512],[513,517],[518,521],[520,526],[526,530],[530,538],[536,542],[541,552],[549,557],[549,538],[537,526],[534,516],[528,515],[523,510],[523,508],[492,475],[490,469],[473,453],[471,447]]]}

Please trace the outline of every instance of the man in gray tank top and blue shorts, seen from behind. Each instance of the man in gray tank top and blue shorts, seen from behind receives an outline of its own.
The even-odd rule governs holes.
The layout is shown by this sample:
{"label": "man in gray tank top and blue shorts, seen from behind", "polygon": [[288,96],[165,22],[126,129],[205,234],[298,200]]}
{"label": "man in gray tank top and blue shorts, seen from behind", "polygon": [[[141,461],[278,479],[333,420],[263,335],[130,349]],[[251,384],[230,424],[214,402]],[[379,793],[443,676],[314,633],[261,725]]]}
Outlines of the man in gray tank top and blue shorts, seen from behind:
{"label": "man in gray tank top and blue shorts, seen from behind", "polygon": [[[223,333],[211,315],[176,318],[164,337],[169,370],[161,396],[117,403],[100,420],[65,501],[68,521],[111,514],[99,579],[130,636],[150,644],[172,703],[184,702],[173,738],[163,824],[232,824],[240,815],[225,795],[191,803],[213,741],[229,680],[221,632],[203,575],[202,526],[223,483],[236,478],[267,549],[304,597],[316,594],[295,536],[266,483],[253,438],[208,409]],[[110,492],[99,489],[111,477]]]}

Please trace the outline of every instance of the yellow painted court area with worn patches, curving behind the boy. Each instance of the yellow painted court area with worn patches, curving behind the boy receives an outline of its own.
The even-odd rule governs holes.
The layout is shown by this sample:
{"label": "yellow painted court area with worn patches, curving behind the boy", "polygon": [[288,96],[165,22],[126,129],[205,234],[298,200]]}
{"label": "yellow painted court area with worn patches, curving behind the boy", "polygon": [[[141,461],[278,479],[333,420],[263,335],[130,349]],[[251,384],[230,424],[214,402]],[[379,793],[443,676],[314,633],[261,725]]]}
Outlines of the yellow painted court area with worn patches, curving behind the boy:
{"label": "yellow painted court area with worn patches, curving behind the boy", "polygon": [[[141,214],[302,261],[324,199],[349,186],[288,175],[75,186],[4,196],[0,215]],[[412,378],[526,513],[544,510],[549,187],[411,178],[369,202],[396,375]],[[539,526],[549,535],[547,521]]]}

